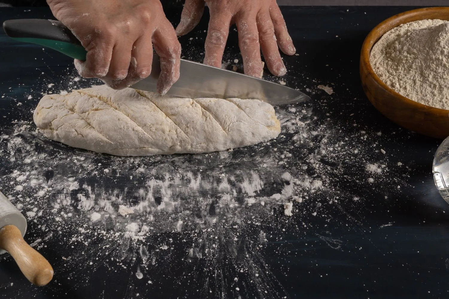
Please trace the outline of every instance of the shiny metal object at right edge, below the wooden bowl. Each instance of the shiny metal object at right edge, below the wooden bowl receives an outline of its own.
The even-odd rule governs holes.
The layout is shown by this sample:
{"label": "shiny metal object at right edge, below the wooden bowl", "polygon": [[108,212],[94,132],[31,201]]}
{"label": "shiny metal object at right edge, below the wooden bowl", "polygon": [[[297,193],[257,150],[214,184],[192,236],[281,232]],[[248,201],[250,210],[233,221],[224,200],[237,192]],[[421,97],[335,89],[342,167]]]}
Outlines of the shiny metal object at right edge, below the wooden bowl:
{"label": "shiny metal object at right edge, below the wooden bowl", "polygon": [[436,150],[432,170],[435,185],[449,204],[449,137]]}

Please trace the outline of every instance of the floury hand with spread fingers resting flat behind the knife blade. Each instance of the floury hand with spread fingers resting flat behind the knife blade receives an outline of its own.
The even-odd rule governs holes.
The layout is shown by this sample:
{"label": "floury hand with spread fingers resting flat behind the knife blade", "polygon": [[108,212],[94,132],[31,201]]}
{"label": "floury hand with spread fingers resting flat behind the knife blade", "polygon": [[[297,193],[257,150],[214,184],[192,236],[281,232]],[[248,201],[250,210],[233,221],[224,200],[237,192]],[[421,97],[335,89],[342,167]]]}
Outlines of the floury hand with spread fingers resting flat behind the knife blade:
{"label": "floury hand with spread fingers resting flat behind the knife blade", "polygon": [[187,34],[198,24],[205,3],[211,15],[205,43],[205,64],[221,67],[229,26],[235,23],[245,74],[262,76],[260,48],[270,72],[276,76],[286,74],[278,46],[287,55],[295,54],[296,49],[276,0],[185,0],[181,20],[176,27],[178,35]]}

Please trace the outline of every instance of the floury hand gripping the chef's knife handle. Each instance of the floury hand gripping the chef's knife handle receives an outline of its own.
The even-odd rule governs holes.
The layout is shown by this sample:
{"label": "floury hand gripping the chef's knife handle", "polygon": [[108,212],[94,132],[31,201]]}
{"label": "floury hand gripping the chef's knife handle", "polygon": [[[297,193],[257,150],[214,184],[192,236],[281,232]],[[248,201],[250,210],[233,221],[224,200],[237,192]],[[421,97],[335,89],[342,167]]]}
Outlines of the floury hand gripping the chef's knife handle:
{"label": "floury hand gripping the chef's knife handle", "polygon": [[165,94],[179,78],[181,46],[159,0],[47,0],[53,15],[87,50],[75,60],[84,78],[122,89],[151,73],[153,47],[160,56],[157,90]]}

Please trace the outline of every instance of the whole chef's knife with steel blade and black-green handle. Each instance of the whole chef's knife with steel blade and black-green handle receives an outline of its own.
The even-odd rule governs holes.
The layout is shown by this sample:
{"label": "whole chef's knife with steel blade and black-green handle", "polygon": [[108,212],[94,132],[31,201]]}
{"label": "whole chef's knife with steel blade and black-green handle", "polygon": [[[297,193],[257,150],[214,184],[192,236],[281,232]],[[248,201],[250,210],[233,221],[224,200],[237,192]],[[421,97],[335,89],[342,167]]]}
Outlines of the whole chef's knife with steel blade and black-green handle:
{"label": "whole chef's knife with steel blade and black-green handle", "polygon": [[[43,19],[18,19],[3,23],[5,33],[21,42],[53,48],[75,59],[84,61],[86,50],[61,22]],[[153,66],[148,78],[132,88],[156,92],[160,74],[159,57],[153,53]],[[292,104],[309,100],[308,95],[274,82],[219,69],[181,59],[180,78],[168,95],[189,98],[258,99],[273,105]]]}

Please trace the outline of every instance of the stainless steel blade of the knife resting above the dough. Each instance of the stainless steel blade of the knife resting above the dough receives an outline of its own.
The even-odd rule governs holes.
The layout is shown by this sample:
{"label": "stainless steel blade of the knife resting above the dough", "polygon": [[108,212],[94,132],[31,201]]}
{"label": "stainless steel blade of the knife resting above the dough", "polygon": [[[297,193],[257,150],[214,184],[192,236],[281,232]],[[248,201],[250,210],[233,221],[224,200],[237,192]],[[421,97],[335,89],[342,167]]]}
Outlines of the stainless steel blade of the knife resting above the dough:
{"label": "stainless steel blade of the knife resting above the dough", "polygon": [[[132,85],[132,88],[156,91],[156,82],[161,69],[159,57],[155,53],[153,55],[150,76]],[[183,59],[180,65],[180,78],[167,95],[193,99],[257,99],[272,105],[310,100],[308,95],[281,84]]]}

